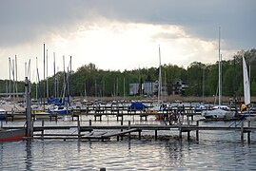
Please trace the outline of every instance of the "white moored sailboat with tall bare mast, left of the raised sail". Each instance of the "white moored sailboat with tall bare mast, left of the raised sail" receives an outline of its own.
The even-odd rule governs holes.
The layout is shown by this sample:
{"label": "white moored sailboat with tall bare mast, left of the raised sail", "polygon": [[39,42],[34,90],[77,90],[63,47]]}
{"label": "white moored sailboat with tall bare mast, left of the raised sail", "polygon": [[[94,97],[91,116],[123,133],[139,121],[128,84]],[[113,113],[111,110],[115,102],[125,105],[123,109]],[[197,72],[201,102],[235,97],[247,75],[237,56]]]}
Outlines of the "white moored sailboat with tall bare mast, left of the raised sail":
{"label": "white moored sailboat with tall bare mast, left of the raised sail", "polygon": [[235,112],[231,111],[231,108],[228,107],[227,105],[222,104],[222,71],[221,71],[221,41],[220,41],[220,36],[221,35],[221,28],[219,28],[219,104],[213,106],[210,110],[206,110],[202,112],[202,116],[205,117],[206,119],[227,119],[227,118],[232,118],[235,116]]}

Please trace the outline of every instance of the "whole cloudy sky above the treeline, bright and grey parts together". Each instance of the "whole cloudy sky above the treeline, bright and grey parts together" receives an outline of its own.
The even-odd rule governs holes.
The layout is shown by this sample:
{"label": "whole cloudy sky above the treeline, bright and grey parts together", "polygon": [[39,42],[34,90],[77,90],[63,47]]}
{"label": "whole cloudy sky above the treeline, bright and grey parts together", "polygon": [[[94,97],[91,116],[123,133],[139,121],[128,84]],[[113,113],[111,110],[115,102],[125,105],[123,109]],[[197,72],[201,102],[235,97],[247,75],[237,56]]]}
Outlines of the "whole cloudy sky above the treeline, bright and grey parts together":
{"label": "whole cloudy sky above the treeline, bright and grey parts together", "polygon": [[229,60],[256,47],[255,18],[255,0],[0,0],[0,79],[15,56],[17,80],[52,76],[53,53],[56,71],[157,67],[159,47],[162,65],[214,64],[219,28]]}

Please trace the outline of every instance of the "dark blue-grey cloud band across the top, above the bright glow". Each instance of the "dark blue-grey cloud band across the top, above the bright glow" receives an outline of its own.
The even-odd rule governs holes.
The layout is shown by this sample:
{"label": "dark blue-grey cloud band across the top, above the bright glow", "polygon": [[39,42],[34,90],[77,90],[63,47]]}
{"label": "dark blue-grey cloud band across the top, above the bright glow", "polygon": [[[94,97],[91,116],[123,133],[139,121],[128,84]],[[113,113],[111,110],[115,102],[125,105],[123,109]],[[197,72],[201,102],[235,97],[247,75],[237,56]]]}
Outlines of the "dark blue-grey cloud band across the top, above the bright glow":
{"label": "dark blue-grey cloud band across the top, above the bright glow", "polygon": [[254,0],[9,0],[0,2],[0,47],[69,31],[80,21],[109,20],[178,25],[203,39],[216,39],[218,27],[230,48],[255,47]]}

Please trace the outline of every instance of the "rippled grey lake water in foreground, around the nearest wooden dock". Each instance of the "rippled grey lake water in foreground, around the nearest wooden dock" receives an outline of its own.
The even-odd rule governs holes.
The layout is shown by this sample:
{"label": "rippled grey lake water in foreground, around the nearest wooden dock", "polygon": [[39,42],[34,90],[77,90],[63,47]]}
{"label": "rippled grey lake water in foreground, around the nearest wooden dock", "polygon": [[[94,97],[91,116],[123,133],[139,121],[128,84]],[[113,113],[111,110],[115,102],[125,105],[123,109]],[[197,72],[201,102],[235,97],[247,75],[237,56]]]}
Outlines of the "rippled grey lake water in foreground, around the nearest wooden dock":
{"label": "rippled grey lake water in foreground, around the nearest wooden dock", "polygon": [[[90,117],[82,118],[82,125],[88,125]],[[200,118],[195,118],[195,120]],[[161,124],[149,117],[148,121],[126,117],[125,123]],[[124,123],[124,124],[125,124]],[[201,125],[224,126],[232,122],[201,122]],[[3,123],[23,125],[24,122]],[[40,125],[36,121],[35,125]],[[103,117],[103,122],[92,124],[119,124],[115,117]],[[69,117],[58,123],[46,121],[45,125],[76,125]],[[252,123],[255,126],[255,123]],[[75,131],[75,130],[69,130]],[[200,132],[199,142],[194,132],[191,141],[184,135],[177,139],[177,131],[159,131],[169,135],[167,140],[154,141],[124,140],[117,142],[33,140],[0,142],[0,170],[255,170],[256,136],[252,133],[251,143],[241,142],[240,131]],[[142,135],[154,135],[145,131]]]}

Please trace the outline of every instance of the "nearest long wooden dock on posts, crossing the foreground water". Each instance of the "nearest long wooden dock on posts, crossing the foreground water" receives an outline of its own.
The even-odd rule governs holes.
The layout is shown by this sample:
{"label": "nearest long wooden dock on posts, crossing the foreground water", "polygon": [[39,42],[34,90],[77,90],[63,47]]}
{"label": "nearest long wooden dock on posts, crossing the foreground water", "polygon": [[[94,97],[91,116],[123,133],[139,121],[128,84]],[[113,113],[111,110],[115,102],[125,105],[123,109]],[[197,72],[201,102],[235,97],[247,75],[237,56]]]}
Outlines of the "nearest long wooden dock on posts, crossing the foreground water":
{"label": "nearest long wooden dock on posts, crossing the foreground water", "polygon": [[[17,126],[4,126],[3,128],[21,128]],[[64,130],[64,129],[76,129],[76,133],[72,134],[59,134],[59,133],[50,133],[46,134],[46,130]],[[241,142],[245,142],[245,134],[247,135],[247,142],[251,142],[251,134],[256,131],[256,127],[251,127],[251,123],[242,122],[240,126],[203,126],[199,125],[199,121],[196,122],[196,125],[188,125],[188,124],[176,124],[176,125],[165,125],[165,124],[130,124],[128,122],[127,125],[92,125],[91,120],[89,121],[89,125],[80,125],[79,120],[77,121],[77,126],[47,126],[44,125],[44,121],[42,121],[42,126],[34,126],[33,127],[33,136],[32,139],[78,139],[78,140],[110,140],[113,137],[119,138],[128,136],[130,137],[130,133],[138,133],[138,139],[141,139],[141,135],[143,131],[154,131],[154,139],[158,140],[158,132],[162,130],[176,130],[178,132],[178,137],[182,140],[184,137],[184,133],[187,133],[187,140],[190,140],[191,132],[195,132],[196,141],[199,142],[200,132],[204,132],[207,130],[211,131],[240,131],[241,133]],[[99,134],[98,132],[101,131]],[[104,131],[104,133],[102,133]],[[175,136],[175,135],[173,135]]]}

